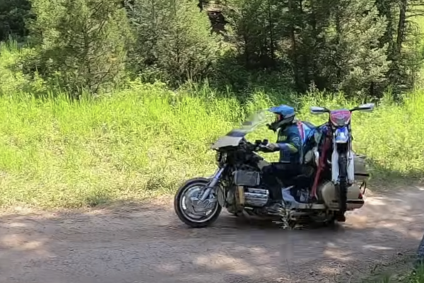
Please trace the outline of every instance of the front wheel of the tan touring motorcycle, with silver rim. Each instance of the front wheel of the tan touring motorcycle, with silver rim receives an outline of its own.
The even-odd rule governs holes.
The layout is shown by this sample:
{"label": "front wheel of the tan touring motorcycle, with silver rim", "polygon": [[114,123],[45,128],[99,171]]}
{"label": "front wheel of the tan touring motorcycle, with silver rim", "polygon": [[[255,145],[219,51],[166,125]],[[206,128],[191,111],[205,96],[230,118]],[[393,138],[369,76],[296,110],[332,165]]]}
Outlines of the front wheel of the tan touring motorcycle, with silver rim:
{"label": "front wheel of the tan touring motorcycle, with silver rim", "polygon": [[204,202],[199,200],[203,188],[208,186],[209,179],[195,178],[179,187],[174,198],[174,210],[178,218],[193,228],[204,228],[218,219],[222,207],[217,198],[210,193]]}

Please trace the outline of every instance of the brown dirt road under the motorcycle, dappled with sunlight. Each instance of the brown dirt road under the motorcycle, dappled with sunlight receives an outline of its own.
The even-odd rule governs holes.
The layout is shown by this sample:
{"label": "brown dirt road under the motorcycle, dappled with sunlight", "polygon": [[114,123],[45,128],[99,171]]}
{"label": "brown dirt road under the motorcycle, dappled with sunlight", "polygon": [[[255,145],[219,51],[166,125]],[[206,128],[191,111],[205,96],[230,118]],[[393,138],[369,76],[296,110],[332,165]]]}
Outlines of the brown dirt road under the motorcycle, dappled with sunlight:
{"label": "brown dirt road under the motorcycle, dappled with sunlight", "polygon": [[[415,251],[424,193],[369,197],[336,229],[282,231],[223,215],[188,229],[171,205],[4,215],[1,283],[334,282]],[[347,279],[345,282],[348,282]]]}

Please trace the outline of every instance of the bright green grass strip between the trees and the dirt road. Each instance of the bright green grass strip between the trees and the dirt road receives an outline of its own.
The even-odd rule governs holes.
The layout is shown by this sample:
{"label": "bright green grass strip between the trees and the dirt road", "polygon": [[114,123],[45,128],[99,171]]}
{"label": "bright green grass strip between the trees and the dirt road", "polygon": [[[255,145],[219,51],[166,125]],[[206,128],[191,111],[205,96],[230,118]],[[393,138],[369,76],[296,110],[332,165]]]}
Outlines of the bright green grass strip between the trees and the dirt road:
{"label": "bright green grass strip between the trees and the dirt road", "polygon": [[[173,192],[184,179],[216,169],[208,147],[219,136],[255,110],[293,99],[258,91],[240,102],[208,87],[172,92],[161,84],[138,83],[93,100],[70,102],[57,93],[35,99],[28,91],[47,95],[48,88],[11,69],[20,52],[0,44],[2,207],[82,207]],[[301,119],[317,124],[327,117],[311,116],[310,105],[358,103],[317,93],[292,102]],[[420,90],[399,104],[385,99],[374,113],[354,114],[354,147],[367,155],[374,179],[419,176],[423,121]],[[274,140],[275,134],[262,127],[248,138]]]}

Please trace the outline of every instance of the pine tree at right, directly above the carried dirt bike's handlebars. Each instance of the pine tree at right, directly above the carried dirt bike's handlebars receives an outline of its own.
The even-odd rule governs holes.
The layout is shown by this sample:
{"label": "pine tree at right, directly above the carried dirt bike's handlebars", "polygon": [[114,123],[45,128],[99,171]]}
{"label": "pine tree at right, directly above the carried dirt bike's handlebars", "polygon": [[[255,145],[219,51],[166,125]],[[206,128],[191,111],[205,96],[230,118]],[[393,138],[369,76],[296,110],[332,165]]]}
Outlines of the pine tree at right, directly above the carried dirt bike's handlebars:
{"label": "pine tree at right, directly above the carried dirt bike's handlebars", "polygon": [[386,79],[387,44],[381,46],[379,38],[387,22],[367,0],[337,1],[333,15],[321,58],[323,75],[332,90],[365,94],[372,84]]}

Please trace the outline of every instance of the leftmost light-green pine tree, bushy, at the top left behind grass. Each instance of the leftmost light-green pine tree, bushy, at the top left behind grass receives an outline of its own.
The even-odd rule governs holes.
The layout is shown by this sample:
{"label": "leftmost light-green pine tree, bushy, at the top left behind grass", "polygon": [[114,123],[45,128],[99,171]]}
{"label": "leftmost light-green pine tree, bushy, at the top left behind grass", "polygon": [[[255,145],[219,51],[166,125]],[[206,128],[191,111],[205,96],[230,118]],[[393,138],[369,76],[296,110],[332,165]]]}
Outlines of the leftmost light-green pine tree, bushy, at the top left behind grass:
{"label": "leftmost light-green pine tree, bushy, at the top left behind grass", "polygon": [[71,93],[119,83],[129,30],[117,0],[33,0],[30,24],[45,76],[56,74]]}

